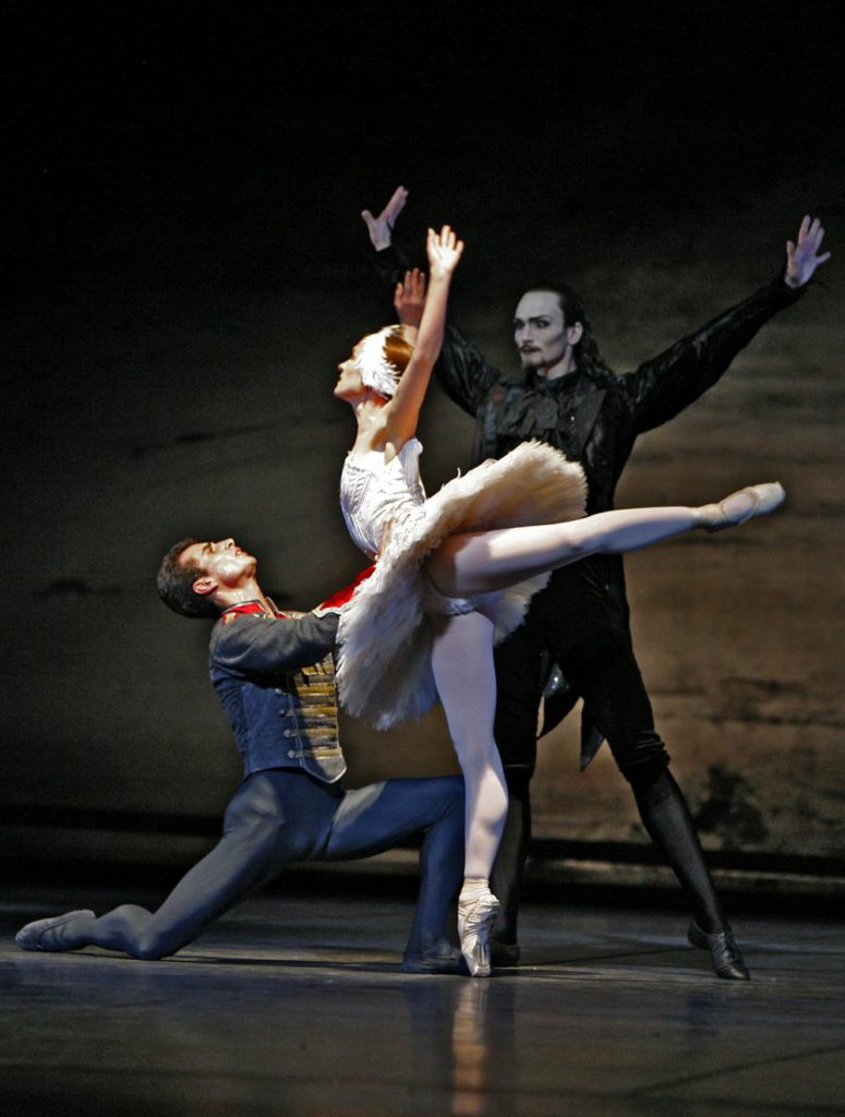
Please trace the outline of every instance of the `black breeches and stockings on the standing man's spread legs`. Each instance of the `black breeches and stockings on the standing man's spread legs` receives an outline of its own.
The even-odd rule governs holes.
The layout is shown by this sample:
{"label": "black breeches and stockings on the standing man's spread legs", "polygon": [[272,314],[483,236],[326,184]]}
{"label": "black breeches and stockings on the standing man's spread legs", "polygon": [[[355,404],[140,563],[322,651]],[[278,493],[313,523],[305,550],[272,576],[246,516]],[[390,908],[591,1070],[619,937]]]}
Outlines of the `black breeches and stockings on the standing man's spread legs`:
{"label": "black breeches and stockings on the standing man's spread legs", "polygon": [[506,773],[522,773],[518,810],[506,830],[510,841],[502,842],[494,873],[505,897],[502,937],[516,939],[519,880],[530,837],[530,801],[524,784],[536,764],[544,650],[584,698],[587,722],[606,737],[631,784],[643,824],[686,888],[700,926],[708,932],[720,929],[724,915],[686,802],[668,771],[669,754],[654,729],[626,612],[595,576],[601,566],[579,575],[577,567],[587,562],[557,571],[531,602],[526,624],[497,649],[496,743]]}

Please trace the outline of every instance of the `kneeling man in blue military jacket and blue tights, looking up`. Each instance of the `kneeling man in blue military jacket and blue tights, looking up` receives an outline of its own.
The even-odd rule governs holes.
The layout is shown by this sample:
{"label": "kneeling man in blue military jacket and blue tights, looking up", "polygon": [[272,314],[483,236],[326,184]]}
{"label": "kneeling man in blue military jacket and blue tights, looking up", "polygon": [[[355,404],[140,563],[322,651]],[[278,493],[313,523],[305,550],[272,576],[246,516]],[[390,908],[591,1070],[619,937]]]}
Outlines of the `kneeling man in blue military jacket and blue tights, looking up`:
{"label": "kneeling man in blue military jacket and blue tights, looking up", "polygon": [[222,839],[156,911],[133,904],[99,918],[69,911],[27,924],[16,942],[25,951],[102,946],[162,958],[286,865],[368,857],[424,831],[416,917],[402,965],[411,973],[462,972],[445,933],[463,870],[462,779],[343,790],[332,651],[351,590],[311,613],[288,617],[261,591],[257,565],[231,538],[183,540],[159,570],[165,604],[185,617],[217,619],[211,680],[244,764]]}

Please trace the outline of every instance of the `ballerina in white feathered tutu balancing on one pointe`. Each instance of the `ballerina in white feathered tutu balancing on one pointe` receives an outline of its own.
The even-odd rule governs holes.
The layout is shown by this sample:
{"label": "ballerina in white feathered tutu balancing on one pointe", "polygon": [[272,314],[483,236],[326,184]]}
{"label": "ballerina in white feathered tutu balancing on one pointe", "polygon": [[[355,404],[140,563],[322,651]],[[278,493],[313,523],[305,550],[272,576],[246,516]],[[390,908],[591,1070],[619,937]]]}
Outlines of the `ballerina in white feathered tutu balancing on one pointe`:
{"label": "ballerina in white feathered tutu balancing on one pointe", "polygon": [[357,433],[340,477],[353,541],[375,560],[340,619],[337,681],[348,712],[377,728],[420,717],[440,698],[465,786],[464,880],[458,904],[470,974],[490,973],[499,903],[489,878],[508,796],[493,739],[493,645],[522,620],[553,570],[588,554],[623,554],[695,527],[719,531],[774,510],[777,483],[698,508],[631,508],[585,516],[580,466],[539,442],[483,462],[426,498],[420,410],[443,340],[452,276],[463,252],[449,226],[429,230],[424,309],[406,327],[362,338],[334,394]]}

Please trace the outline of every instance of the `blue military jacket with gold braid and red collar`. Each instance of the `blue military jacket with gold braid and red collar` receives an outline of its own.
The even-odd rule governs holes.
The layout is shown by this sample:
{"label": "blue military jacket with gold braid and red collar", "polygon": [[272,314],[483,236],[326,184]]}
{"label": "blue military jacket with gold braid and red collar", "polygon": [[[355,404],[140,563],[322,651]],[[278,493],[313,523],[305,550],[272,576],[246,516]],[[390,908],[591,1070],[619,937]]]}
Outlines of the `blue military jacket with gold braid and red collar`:
{"label": "blue military jacket with gold braid and red collar", "polygon": [[211,681],[234,729],[244,774],[296,767],[325,783],[346,771],[332,652],[338,614],[225,610],[209,647]]}

